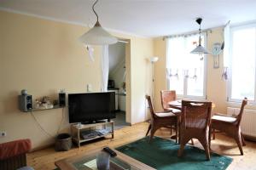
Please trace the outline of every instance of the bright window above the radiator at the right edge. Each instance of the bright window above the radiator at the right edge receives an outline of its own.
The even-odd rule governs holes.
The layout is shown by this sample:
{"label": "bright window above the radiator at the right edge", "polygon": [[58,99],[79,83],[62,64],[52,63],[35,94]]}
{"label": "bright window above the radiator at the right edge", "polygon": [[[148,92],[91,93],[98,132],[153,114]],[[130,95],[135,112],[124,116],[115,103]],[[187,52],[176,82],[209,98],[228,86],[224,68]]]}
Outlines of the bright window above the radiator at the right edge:
{"label": "bright window above the radiator at the right edge", "polygon": [[230,29],[229,100],[255,101],[256,25]]}

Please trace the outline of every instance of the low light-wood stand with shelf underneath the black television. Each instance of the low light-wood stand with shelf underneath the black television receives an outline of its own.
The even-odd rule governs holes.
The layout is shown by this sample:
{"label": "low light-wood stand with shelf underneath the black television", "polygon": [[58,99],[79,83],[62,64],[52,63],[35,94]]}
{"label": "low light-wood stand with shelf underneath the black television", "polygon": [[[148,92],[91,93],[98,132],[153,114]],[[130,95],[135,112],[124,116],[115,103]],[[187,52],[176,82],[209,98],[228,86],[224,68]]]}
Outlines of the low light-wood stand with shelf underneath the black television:
{"label": "low light-wood stand with shelf underneath the black television", "polygon": [[[102,135],[98,135],[94,138],[90,138],[90,139],[83,139],[81,138],[80,133],[82,133],[83,131],[88,131],[88,130],[96,130],[96,129],[107,129],[107,127],[110,126],[111,131],[109,131],[106,134],[102,134]],[[71,125],[71,135],[72,135],[72,139],[73,141],[78,144],[79,148],[80,148],[80,144],[83,142],[87,142],[93,139],[99,139],[102,137],[106,137],[108,135],[112,136],[113,139],[113,121],[110,122],[95,122],[95,123],[89,123],[89,124],[81,124],[80,126],[78,126],[77,124],[73,124]]]}

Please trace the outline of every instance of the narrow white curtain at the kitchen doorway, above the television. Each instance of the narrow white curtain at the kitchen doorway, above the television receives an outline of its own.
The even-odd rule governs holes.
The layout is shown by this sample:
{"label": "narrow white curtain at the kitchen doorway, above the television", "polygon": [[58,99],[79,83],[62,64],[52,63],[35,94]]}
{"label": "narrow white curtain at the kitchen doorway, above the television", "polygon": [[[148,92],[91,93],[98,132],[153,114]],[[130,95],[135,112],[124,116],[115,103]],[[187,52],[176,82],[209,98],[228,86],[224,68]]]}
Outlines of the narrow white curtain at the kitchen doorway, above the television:
{"label": "narrow white curtain at the kitchen doorway, above the television", "polygon": [[102,46],[102,92],[108,91],[108,45]]}

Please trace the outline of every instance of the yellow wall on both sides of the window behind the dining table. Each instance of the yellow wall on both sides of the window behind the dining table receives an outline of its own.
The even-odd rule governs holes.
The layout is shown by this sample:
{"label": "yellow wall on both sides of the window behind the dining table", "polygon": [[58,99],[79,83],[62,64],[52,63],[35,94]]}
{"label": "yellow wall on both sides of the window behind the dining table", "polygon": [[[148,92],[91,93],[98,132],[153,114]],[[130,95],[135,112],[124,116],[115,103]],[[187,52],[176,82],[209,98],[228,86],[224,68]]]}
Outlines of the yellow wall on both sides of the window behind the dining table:
{"label": "yellow wall on both sides of the window behind the dining table", "polygon": [[[223,29],[213,29],[208,32],[207,36],[207,49],[211,51],[212,45],[215,42],[223,42]],[[155,68],[155,103],[157,109],[161,109],[160,105],[160,90],[167,88],[166,82],[166,41],[162,37],[154,39],[154,52],[155,55],[160,57],[160,62],[156,63]],[[214,111],[226,112],[227,107],[227,90],[226,83],[221,79],[223,71],[223,54],[220,54],[220,67],[213,69],[212,54],[207,54],[207,99],[212,100],[216,104]],[[185,61],[184,61],[185,62]]]}

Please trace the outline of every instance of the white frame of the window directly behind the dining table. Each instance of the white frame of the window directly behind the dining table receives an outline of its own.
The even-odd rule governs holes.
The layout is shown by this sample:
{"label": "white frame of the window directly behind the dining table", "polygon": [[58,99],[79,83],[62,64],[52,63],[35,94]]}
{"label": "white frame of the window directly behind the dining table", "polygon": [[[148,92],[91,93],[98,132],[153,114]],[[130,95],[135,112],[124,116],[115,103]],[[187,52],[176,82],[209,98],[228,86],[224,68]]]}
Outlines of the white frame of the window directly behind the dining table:
{"label": "white frame of the window directly behind the dining table", "polygon": [[[204,38],[203,47],[207,48],[207,32],[201,33]],[[169,48],[167,43],[167,48]],[[166,54],[168,55],[168,49],[166,48]],[[196,55],[196,54],[195,54]],[[204,55],[204,80],[203,80],[203,95],[202,96],[194,96],[194,95],[187,95],[188,89],[188,78],[183,77],[183,95],[177,94],[177,99],[207,99],[207,54]],[[167,59],[169,60],[169,59]],[[167,80],[167,88],[170,89],[170,80]]]}

